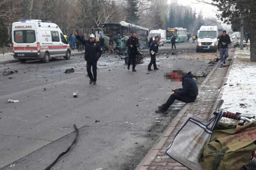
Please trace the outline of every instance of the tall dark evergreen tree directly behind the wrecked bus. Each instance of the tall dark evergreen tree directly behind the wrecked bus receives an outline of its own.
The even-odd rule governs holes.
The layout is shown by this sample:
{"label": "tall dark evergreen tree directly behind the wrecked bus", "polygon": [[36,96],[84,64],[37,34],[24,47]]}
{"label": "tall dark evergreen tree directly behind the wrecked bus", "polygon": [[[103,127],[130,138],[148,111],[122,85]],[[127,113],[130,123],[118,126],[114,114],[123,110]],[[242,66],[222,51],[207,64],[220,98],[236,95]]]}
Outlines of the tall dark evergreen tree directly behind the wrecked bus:
{"label": "tall dark evergreen tree directly behind the wrecked bus", "polygon": [[137,24],[139,20],[138,11],[138,0],[127,0],[126,21]]}

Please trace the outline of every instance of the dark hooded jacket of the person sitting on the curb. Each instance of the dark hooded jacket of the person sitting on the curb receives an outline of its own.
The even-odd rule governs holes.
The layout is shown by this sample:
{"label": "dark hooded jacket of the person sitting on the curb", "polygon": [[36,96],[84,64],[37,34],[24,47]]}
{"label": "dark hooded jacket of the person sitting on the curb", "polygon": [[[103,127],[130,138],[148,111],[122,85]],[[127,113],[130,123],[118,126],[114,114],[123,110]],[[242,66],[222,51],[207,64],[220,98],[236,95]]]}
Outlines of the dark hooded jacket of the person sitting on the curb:
{"label": "dark hooded jacket of the person sitting on the curb", "polygon": [[177,94],[186,95],[190,97],[197,97],[198,95],[198,87],[196,81],[193,79],[193,75],[191,71],[185,74],[182,78],[182,87],[177,91]]}

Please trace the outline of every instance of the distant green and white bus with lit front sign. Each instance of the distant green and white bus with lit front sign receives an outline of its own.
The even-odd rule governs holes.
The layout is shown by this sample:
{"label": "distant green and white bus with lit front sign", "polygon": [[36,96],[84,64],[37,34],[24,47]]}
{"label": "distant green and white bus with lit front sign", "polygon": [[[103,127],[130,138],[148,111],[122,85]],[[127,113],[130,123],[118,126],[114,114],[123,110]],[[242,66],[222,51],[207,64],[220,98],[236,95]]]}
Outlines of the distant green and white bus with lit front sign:
{"label": "distant green and white bus with lit front sign", "polygon": [[171,43],[172,36],[175,36],[175,42],[187,41],[187,29],[175,27],[166,29],[166,42]]}

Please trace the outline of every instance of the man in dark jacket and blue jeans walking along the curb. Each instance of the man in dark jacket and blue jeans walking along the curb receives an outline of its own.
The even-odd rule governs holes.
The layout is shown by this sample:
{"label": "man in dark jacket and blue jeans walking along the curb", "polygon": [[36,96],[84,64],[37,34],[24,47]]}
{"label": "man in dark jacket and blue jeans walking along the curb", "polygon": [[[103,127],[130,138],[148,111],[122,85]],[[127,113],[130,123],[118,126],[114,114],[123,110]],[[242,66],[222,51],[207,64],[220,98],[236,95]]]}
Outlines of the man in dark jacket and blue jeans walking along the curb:
{"label": "man in dark jacket and blue jeans walking along the curb", "polygon": [[[230,37],[227,34],[226,30],[222,32],[222,35],[219,37],[218,49],[220,54],[220,68],[223,67],[223,64],[226,64],[226,59],[229,56],[228,45],[231,43]],[[223,58],[224,56],[224,58]]]}

